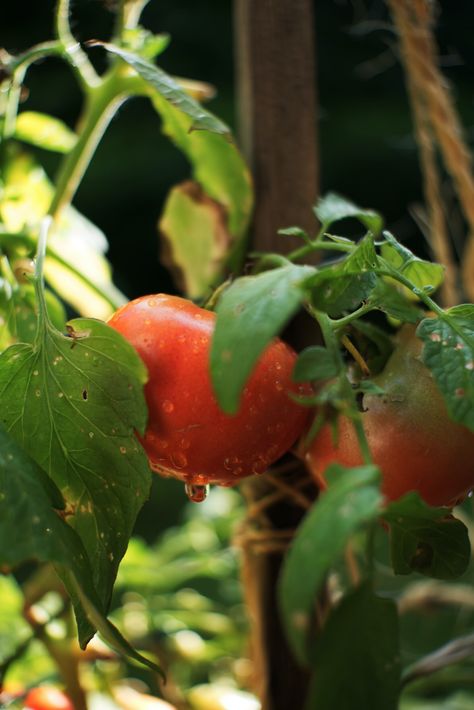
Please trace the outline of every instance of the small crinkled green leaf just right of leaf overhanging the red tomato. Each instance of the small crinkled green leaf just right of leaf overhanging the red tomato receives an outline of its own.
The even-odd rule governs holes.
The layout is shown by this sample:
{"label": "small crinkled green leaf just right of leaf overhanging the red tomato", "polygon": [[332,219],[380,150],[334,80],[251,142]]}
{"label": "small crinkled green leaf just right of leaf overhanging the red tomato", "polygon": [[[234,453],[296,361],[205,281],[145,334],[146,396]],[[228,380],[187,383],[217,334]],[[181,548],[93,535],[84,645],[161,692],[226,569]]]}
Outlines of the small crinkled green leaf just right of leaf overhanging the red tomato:
{"label": "small crinkled green leaf just right of leaf overhanging the red tomato", "polygon": [[307,280],[305,286],[311,289],[313,305],[332,317],[354,311],[376,285],[376,267],[374,239],[368,234],[345,259],[322,267]]}

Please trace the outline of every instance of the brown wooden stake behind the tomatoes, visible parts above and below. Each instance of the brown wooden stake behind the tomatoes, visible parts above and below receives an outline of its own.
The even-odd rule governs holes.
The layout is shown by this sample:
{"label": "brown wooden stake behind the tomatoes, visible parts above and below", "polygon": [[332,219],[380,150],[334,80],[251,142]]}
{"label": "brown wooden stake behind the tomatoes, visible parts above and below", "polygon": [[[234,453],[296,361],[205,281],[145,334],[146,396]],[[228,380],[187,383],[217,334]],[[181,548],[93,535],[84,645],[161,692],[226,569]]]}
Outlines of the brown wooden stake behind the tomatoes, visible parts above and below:
{"label": "brown wooden stake behind the tomatoes, visible parts above and below", "polygon": [[[256,189],[252,247],[285,253],[301,242],[279,236],[279,228],[299,226],[313,234],[316,229],[311,210],[318,194],[313,3],[235,0],[234,7],[240,143]],[[304,321],[301,325],[304,330]],[[294,340],[301,340],[299,335],[292,330]],[[288,491],[304,490],[305,476],[297,464],[283,485]],[[249,510],[258,509],[275,488],[260,478],[250,480],[244,492]],[[314,489],[308,495],[314,496]],[[303,513],[291,496],[280,497],[265,507],[263,525],[262,520],[250,523],[268,532],[267,550],[242,545],[255,690],[262,710],[302,710],[307,693],[309,676],[291,655],[277,609],[284,552],[281,544],[271,544],[272,531],[281,542],[282,533],[297,527]]]}

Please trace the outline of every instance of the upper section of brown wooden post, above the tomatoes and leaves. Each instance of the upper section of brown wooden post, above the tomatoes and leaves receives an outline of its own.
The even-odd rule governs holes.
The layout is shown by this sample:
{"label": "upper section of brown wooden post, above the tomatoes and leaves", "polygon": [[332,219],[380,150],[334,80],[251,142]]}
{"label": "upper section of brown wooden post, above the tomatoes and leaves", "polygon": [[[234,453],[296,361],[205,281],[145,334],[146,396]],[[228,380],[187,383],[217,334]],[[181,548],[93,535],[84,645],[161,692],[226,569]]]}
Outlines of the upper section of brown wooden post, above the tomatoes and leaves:
{"label": "upper section of brown wooden post, above the tomatoes and leaves", "polygon": [[253,245],[289,251],[281,227],[314,232],[318,194],[312,0],[235,0],[239,137],[257,204]]}

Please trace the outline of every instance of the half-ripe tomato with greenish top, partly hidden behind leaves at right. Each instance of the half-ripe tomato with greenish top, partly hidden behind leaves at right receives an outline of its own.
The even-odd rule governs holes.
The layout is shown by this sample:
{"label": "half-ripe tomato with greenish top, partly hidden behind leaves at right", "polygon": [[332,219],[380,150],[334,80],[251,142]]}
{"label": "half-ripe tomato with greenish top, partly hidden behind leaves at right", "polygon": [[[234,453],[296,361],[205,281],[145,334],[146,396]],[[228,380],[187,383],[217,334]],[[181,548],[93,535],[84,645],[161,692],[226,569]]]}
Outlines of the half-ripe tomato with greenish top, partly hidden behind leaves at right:
{"label": "half-ripe tomato with greenish top, partly hidden behind leaves at right", "polygon": [[[384,371],[373,378],[385,394],[364,396],[362,422],[387,500],[418,491],[430,505],[451,507],[474,487],[474,433],[449,418],[421,349],[415,328],[402,328]],[[306,460],[322,487],[329,464],[362,464],[351,420],[338,418],[337,444],[324,426]]]}

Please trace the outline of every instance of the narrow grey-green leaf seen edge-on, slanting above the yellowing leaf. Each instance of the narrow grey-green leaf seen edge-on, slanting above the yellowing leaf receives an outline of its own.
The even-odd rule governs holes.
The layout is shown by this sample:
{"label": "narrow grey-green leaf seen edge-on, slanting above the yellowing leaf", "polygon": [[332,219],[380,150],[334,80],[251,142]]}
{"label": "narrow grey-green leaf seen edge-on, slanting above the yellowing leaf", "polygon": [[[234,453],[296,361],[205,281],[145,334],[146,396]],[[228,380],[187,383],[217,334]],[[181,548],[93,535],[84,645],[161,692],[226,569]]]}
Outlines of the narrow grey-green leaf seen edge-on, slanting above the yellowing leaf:
{"label": "narrow grey-green leaf seen edge-on, slanting above the yellowing leaf", "polygon": [[159,67],[138,54],[128,52],[108,42],[89,42],[90,47],[103,47],[128,64],[142,79],[155,89],[168,103],[186,114],[192,123],[191,130],[212,131],[229,136],[230,130],[220,119],[206,111],[197,101],[187,94],[179,83]]}

